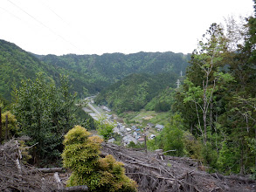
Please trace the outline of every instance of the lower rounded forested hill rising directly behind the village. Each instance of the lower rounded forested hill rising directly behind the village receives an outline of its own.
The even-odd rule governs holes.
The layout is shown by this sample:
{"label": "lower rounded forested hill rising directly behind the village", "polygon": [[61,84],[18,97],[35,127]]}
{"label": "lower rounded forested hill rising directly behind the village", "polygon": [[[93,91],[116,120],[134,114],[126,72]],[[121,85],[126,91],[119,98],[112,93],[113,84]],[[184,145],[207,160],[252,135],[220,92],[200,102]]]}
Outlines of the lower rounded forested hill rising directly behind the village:
{"label": "lower rounded forested hill rising directly behind the village", "polygon": [[[156,75],[132,74],[112,86],[108,86],[107,89],[97,95],[95,101],[97,104],[107,104],[117,113],[139,111],[164,89],[174,87],[176,78],[177,75],[174,72]],[[155,103],[152,105],[154,108]]]}

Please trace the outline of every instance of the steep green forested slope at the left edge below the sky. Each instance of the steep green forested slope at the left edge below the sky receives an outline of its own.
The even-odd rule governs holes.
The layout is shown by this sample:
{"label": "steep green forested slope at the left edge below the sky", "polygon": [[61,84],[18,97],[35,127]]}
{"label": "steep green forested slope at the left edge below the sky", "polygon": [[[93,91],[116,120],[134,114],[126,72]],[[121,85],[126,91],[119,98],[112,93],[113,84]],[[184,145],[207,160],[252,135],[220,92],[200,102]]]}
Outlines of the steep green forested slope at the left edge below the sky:
{"label": "steep green forested slope at the left edge below the sky", "polygon": [[21,79],[33,79],[37,72],[47,74],[47,65],[17,45],[0,40],[0,94],[10,100],[13,86],[19,86]]}

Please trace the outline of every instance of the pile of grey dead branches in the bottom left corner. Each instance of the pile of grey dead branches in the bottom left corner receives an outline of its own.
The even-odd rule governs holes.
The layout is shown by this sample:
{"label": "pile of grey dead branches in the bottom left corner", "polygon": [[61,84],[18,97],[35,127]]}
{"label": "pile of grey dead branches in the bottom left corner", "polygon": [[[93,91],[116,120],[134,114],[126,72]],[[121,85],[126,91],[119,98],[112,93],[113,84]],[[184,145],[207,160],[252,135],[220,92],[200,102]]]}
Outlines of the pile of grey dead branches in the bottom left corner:
{"label": "pile of grey dead branches in the bottom left corner", "polygon": [[0,146],[0,191],[52,191],[51,182],[29,165],[21,162],[18,140],[10,140]]}

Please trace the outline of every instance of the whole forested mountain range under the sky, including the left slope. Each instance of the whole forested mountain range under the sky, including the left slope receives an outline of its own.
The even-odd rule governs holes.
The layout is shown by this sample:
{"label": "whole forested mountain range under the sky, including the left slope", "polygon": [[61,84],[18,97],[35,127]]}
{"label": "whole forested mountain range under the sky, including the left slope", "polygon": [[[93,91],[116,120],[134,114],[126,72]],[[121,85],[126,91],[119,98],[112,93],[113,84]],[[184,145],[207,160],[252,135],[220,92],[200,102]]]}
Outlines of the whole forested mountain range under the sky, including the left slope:
{"label": "whole forested mountain range under the sky, including the left slope", "polygon": [[12,86],[21,79],[34,79],[44,72],[58,84],[59,75],[67,75],[73,92],[80,96],[98,93],[107,86],[133,73],[185,72],[190,55],[173,52],[138,52],[63,56],[36,55],[17,45],[0,41],[0,94],[10,99]]}

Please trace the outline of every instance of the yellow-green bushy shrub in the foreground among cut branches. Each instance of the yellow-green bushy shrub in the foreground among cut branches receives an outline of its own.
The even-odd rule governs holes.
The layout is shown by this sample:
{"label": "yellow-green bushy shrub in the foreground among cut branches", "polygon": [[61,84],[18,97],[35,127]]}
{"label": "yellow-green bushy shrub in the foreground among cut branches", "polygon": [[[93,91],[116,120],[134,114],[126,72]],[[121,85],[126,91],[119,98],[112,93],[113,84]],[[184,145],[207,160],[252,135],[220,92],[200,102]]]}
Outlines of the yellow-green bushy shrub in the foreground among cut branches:
{"label": "yellow-green bushy shrub in the foreground among cut branches", "polygon": [[100,158],[100,137],[89,135],[80,126],[65,135],[63,164],[73,170],[67,185],[87,185],[90,191],[137,191],[121,162],[110,154]]}

